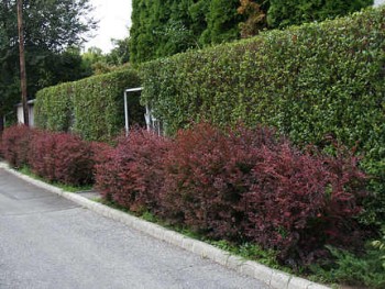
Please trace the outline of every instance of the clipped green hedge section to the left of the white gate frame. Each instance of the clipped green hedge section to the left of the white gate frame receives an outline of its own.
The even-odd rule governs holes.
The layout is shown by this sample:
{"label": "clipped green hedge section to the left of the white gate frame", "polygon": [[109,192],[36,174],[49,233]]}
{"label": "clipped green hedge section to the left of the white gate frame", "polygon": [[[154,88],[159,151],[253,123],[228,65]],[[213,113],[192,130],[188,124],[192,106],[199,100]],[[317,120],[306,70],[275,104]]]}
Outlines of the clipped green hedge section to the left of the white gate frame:
{"label": "clipped green hedge section to the left of the white gate frame", "polygon": [[124,127],[124,89],[139,86],[136,71],[128,69],[45,88],[36,95],[36,126],[109,141]]}

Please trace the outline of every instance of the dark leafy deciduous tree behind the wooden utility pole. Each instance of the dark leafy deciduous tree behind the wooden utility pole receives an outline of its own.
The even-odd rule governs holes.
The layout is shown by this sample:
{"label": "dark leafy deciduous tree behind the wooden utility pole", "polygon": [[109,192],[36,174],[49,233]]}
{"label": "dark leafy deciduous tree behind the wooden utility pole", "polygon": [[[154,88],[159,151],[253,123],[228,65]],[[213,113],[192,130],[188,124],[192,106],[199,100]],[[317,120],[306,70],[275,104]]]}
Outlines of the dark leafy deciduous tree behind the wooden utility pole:
{"label": "dark leafy deciduous tree behind the wooden utility pole", "polygon": [[[89,36],[87,33],[96,27],[96,21],[87,16],[91,9],[89,0],[24,1],[24,47],[30,98],[44,86],[84,76],[78,70],[81,63],[79,54],[70,52],[69,47],[80,45]],[[16,1],[0,0],[0,119],[19,102],[16,23]],[[65,73],[64,69],[68,68],[69,71]]]}

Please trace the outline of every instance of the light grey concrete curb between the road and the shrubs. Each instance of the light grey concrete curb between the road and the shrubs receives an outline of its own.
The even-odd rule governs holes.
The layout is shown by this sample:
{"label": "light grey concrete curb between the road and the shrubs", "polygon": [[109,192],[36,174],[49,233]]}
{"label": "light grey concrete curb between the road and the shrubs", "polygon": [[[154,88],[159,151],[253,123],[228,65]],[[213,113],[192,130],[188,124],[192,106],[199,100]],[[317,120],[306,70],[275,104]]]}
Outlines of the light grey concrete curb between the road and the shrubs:
{"label": "light grey concrete curb between the road and the shrubs", "polygon": [[[174,231],[164,229],[154,223],[143,221],[136,216],[130,215],[128,213],[111,209],[105,204],[94,202],[84,197],[80,197],[73,192],[64,191],[44,181],[33,179],[29,176],[18,173],[14,169],[9,168],[9,166],[1,162],[0,168],[13,174],[14,176],[35,185],[36,187],[46,189],[54,193],[57,193],[68,200],[72,200],[79,205],[87,208],[94,212],[97,212],[103,216],[110,218],[128,226],[153,236],[157,240],[162,240],[186,251],[193,252],[202,258],[211,259],[224,267],[233,269],[242,275],[253,277],[257,280],[264,281],[271,288],[276,289],[328,289],[329,287],[311,282],[307,279],[295,277],[287,273],[272,269],[265,265],[258,264],[256,262],[245,260],[242,257],[231,255],[230,253],[206,244],[204,242],[189,238]],[[329,288],[330,289],[330,288]]]}

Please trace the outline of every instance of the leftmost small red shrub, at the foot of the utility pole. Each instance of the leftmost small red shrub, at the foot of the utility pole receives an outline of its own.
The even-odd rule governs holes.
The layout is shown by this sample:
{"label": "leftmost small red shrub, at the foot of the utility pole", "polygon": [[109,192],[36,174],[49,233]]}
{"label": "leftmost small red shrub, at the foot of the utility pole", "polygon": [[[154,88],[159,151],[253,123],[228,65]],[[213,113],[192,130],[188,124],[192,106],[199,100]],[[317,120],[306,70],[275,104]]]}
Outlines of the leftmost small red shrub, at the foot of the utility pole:
{"label": "leftmost small red shrub, at the foot of the utility pole", "polygon": [[14,125],[3,131],[1,136],[2,155],[12,166],[21,168],[28,165],[29,145],[33,132],[25,125]]}

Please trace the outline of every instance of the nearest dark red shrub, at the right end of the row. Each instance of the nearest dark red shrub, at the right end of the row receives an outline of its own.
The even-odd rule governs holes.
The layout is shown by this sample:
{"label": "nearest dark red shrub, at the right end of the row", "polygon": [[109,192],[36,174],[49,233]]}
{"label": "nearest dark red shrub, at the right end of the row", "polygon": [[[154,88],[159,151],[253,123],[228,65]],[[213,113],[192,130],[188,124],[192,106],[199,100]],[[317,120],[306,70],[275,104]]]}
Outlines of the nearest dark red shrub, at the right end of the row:
{"label": "nearest dark red shrub, at the right end of the row", "polygon": [[314,262],[326,244],[352,245],[365,179],[355,157],[301,153],[288,142],[258,154],[243,200],[249,237],[289,264]]}

